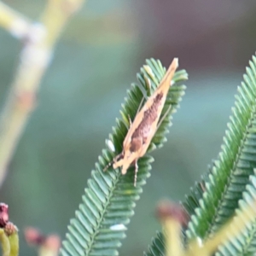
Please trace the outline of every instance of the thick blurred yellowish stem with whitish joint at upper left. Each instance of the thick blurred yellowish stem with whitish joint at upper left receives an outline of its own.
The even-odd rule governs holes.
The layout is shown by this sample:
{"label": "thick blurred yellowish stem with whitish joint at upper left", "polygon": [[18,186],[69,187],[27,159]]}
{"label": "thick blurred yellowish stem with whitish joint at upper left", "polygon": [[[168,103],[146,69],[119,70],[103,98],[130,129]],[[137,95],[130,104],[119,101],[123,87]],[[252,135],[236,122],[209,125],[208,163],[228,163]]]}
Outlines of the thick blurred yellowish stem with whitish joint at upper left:
{"label": "thick blurred yellowish stem with whitish joint at upper left", "polygon": [[[83,2],[84,0],[49,0],[41,23],[29,26],[17,73],[0,117],[0,185],[35,106],[38,86],[49,66],[55,42],[70,15],[78,10]],[[9,16],[6,15],[6,21],[2,21],[2,25],[6,24],[5,27],[8,27],[11,17],[15,19],[15,12],[7,7],[5,9],[9,10],[5,11]]]}

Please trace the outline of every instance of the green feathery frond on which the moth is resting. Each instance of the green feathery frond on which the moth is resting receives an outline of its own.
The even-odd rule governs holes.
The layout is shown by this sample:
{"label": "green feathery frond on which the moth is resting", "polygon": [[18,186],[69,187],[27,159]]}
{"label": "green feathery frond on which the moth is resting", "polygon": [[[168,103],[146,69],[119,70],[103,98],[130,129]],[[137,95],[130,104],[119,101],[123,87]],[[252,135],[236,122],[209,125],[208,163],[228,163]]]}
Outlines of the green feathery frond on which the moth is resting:
{"label": "green feathery frond on which the moth is resting", "polygon": [[[147,61],[147,65],[151,68],[154,79],[151,79],[147,71],[142,68],[141,73],[137,75],[140,85],[131,84],[131,90],[128,90],[128,96],[122,106],[121,116],[124,118],[117,119],[113,134],[109,136],[106,143],[108,149],[102,150],[102,156],[99,156],[99,161],[96,163],[96,170],[91,172],[88,188],[85,189],[82,197],[83,201],[79,205],[79,210],[75,212],[75,218],[71,219],[66,239],[62,242],[62,256],[118,255],[117,249],[121,245],[121,239],[125,237],[126,225],[134,213],[135,201],[139,199],[139,195],[143,191],[142,186],[150,175],[150,162],[153,158],[145,155],[138,160],[139,171],[136,187],[133,185],[134,167],[131,167],[125,176],[121,175],[118,169],[113,170],[112,167],[107,172],[102,170],[113,160],[114,155],[122,150],[129,125],[127,121],[129,117],[131,120],[134,119],[137,108],[143,101],[143,91],[140,87],[143,87],[145,91],[153,91],[166,73],[166,69],[162,67],[160,61],[151,59]],[[170,116],[176,110],[178,102],[184,94],[185,86],[182,83],[185,79],[187,79],[185,71],[178,71],[173,78],[174,84],[168,93],[162,114],[170,104],[172,104],[172,108],[156,132],[150,144],[150,150],[159,148],[166,140],[165,133]],[[154,80],[157,83],[154,83]],[[148,83],[150,88],[148,88]],[[113,147],[110,146],[112,143],[114,153]]]}

